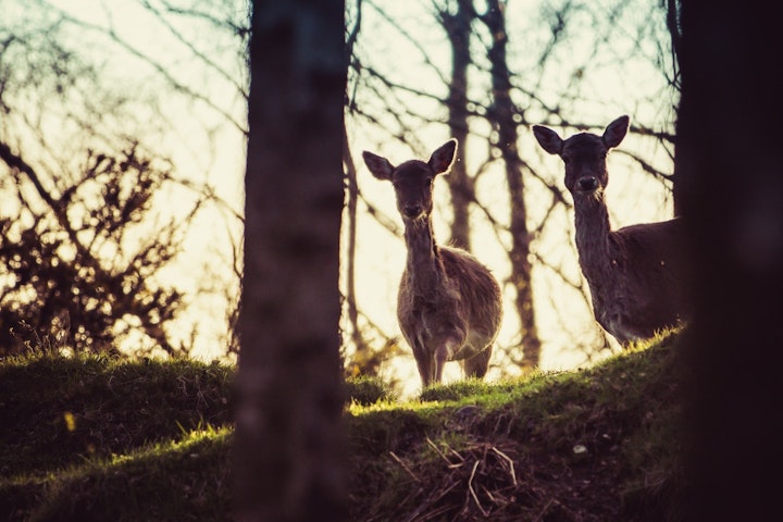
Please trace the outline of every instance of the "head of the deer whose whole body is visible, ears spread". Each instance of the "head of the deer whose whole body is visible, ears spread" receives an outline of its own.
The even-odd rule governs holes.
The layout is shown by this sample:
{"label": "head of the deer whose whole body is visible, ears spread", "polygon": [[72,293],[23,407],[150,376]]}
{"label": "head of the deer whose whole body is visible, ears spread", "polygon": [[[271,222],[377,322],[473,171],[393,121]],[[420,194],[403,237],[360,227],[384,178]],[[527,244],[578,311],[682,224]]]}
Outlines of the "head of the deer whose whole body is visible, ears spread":
{"label": "head of the deer whose whole body is visible, ears spread", "polygon": [[450,139],[430,157],[426,163],[410,160],[394,166],[386,158],[364,151],[364,163],[373,176],[391,182],[397,210],[403,220],[426,219],[433,209],[433,181],[448,172],[457,152],[457,140]]}

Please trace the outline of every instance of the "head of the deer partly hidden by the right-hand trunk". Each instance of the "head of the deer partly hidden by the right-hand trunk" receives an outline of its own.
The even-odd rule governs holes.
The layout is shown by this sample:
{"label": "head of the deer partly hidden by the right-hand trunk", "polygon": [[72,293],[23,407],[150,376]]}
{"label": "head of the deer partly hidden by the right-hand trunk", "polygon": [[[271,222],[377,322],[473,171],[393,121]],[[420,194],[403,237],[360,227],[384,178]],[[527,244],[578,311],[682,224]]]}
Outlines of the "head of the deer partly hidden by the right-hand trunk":
{"label": "head of the deer partly hidden by the right-hand trunk", "polygon": [[566,188],[575,198],[595,196],[609,183],[606,157],[625,137],[629,116],[611,122],[604,135],[581,133],[563,140],[558,134],[540,125],[533,126],[533,134],[544,150],[559,156],[566,164]]}

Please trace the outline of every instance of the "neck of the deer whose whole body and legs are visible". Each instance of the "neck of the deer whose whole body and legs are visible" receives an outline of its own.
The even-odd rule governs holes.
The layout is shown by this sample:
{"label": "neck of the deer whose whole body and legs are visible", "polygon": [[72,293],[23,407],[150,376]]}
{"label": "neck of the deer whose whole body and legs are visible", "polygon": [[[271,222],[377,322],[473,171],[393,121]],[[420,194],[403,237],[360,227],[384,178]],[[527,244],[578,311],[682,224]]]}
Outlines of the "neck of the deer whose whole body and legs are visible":
{"label": "neck of the deer whose whole body and legs are visible", "polygon": [[408,261],[406,271],[417,288],[423,291],[436,288],[443,278],[443,263],[435,237],[432,219],[406,222]]}

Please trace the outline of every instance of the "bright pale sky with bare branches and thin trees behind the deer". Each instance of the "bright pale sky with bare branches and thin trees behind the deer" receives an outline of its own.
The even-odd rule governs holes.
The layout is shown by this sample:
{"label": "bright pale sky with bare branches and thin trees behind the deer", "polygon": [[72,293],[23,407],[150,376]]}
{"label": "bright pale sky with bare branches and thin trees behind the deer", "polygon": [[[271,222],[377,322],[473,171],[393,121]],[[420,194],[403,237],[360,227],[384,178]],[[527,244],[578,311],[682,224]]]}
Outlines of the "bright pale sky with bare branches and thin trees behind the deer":
{"label": "bright pale sky with bare branches and thin trees behind the deer", "polygon": [[[249,8],[72,4],[0,0],[0,346],[67,334],[79,351],[232,358]],[[452,136],[436,236],[504,284],[490,378],[617,350],[592,318],[561,165],[529,126],[570,135],[630,114],[612,222],[671,215],[674,2],[357,0],[346,23],[346,372],[417,385],[395,319],[400,221],[360,153],[426,158]]]}

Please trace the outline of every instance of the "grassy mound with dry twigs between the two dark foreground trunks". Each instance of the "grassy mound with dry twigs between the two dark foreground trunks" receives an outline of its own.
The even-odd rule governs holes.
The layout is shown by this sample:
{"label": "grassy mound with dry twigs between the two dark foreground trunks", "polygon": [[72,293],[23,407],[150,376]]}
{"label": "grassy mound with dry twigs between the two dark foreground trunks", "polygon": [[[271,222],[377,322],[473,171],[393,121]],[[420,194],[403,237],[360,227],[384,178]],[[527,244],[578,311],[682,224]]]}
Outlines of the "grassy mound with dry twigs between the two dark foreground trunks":
{"label": "grassy mound with dry twigs between the two dark foreground trunks", "polygon": [[591,370],[355,411],[353,519],[676,520],[674,352],[668,337]]}

